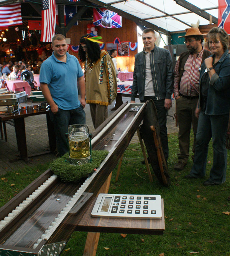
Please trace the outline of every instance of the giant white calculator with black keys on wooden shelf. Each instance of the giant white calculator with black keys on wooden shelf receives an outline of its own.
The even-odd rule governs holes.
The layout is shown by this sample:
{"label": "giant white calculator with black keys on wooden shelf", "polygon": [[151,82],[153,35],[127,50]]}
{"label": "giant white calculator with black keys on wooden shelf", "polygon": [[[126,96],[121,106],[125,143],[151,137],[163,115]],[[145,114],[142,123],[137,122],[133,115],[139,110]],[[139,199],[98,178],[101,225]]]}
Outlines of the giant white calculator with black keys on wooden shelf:
{"label": "giant white calculator with black keys on wooden shelf", "polygon": [[161,220],[161,196],[99,194],[91,216]]}

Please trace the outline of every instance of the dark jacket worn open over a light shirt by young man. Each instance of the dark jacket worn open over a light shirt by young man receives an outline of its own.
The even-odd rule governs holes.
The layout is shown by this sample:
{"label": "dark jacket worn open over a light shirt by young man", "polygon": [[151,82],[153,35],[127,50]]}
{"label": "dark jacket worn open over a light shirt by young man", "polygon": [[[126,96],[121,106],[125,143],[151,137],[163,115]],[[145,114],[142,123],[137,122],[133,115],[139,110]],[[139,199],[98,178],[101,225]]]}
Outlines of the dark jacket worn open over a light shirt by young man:
{"label": "dark jacket worn open over a light shirt by young man", "polygon": [[[171,99],[173,92],[172,57],[168,50],[154,46],[150,53],[150,66],[154,84],[156,100]],[[131,101],[135,101],[136,94],[143,100],[145,96],[145,53],[135,55],[133,72],[133,86]]]}

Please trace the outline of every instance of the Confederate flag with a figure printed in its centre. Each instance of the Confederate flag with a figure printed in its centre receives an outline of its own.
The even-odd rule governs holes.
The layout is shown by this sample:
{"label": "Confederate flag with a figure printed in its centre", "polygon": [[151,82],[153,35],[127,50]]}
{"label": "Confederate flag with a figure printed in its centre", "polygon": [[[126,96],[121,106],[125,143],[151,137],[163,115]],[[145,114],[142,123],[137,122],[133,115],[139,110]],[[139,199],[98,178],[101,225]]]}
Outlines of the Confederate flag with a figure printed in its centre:
{"label": "Confederate flag with a figure printed in its centre", "polygon": [[122,17],[106,8],[94,8],[94,25],[104,28],[121,28]]}

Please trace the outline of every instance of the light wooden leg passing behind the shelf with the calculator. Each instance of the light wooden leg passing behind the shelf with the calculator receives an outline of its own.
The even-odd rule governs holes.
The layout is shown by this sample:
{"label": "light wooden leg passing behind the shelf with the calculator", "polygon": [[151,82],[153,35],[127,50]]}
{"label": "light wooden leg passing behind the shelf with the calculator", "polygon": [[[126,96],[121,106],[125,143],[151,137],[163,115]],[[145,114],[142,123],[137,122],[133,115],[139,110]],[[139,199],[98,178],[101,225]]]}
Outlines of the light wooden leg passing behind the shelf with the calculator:
{"label": "light wooden leg passing behind the shelf with the calculator", "polygon": [[[110,173],[107,180],[100,188],[97,195],[99,195],[100,193],[108,193],[111,177],[112,177],[112,172]],[[96,255],[99,237],[100,237],[100,233],[88,232],[86,242],[85,242],[85,249],[84,249],[84,253],[83,253],[84,256],[95,256]]]}

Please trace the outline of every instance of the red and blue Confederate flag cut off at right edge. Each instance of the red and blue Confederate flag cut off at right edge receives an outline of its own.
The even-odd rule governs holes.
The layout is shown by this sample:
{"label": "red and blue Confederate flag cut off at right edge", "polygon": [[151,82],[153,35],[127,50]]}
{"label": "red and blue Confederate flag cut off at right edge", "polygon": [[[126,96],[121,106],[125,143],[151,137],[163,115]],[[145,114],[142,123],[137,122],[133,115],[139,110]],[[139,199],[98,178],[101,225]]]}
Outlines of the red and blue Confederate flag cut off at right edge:
{"label": "red and blue Confederate flag cut off at right edge", "polygon": [[218,0],[218,27],[230,34],[230,0]]}

